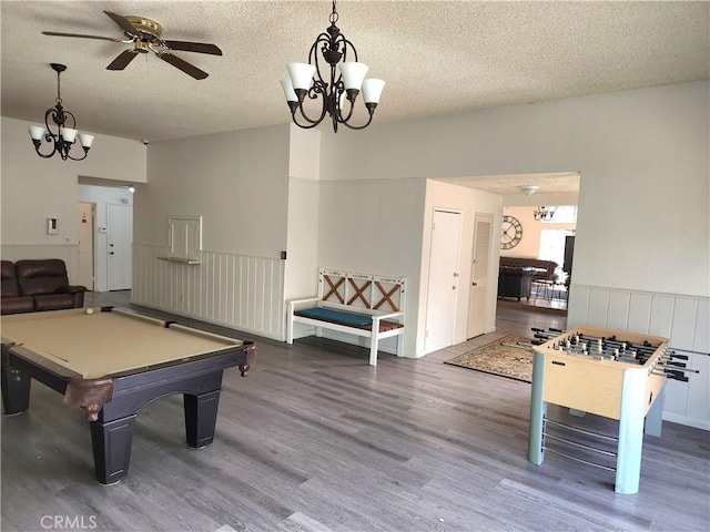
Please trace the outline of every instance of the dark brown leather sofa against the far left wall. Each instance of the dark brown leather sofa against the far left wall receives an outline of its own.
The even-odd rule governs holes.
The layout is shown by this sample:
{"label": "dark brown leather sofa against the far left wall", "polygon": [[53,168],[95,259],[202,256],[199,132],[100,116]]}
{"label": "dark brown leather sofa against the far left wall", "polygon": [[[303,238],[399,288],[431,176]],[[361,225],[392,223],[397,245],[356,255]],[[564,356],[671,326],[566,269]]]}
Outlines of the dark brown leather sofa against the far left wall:
{"label": "dark brown leather sofa against the far left wall", "polygon": [[[17,297],[11,295],[11,267],[19,287]],[[18,260],[14,265],[9,260],[2,262],[2,314],[81,308],[84,306],[84,291],[85,286],[69,284],[67,266],[59,258]]]}

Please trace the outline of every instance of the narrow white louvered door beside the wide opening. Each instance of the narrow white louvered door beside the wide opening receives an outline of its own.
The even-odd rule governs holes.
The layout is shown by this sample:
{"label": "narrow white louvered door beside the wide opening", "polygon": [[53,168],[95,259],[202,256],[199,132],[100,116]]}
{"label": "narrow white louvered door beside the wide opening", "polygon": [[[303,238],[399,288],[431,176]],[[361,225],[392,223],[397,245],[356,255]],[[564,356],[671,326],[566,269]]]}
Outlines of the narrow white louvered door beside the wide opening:
{"label": "narrow white louvered door beside the wide opening", "polygon": [[476,213],[474,224],[467,338],[473,338],[486,332],[486,323],[488,321],[486,294],[491,282],[489,257],[493,239],[493,214]]}

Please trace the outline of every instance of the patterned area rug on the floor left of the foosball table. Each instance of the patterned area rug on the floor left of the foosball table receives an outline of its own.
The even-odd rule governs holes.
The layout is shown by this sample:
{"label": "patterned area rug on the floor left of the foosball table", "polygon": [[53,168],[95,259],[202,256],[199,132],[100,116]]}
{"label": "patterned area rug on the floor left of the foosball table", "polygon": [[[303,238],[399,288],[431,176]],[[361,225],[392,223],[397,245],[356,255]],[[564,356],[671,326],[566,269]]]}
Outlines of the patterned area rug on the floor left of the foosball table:
{"label": "patterned area rug on the floor left of the foosball table", "polygon": [[528,347],[531,345],[529,338],[508,335],[444,364],[531,382],[532,350]]}

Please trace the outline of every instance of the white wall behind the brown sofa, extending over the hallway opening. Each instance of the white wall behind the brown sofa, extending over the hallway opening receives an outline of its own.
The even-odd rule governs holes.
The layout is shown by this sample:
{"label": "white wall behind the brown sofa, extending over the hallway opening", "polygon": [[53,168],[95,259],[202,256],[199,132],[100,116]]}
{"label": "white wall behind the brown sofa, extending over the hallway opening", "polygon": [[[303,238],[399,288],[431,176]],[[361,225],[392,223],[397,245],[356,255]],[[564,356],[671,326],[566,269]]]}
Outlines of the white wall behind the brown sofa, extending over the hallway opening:
{"label": "white wall behind the brown sofa, extending over the hallway opening", "polygon": [[[62,161],[59,155],[42,158],[29,137],[30,124],[4,116],[1,122],[2,257],[63,258],[70,282],[74,282],[79,176],[145,183],[145,146],[138,141],[95,135],[83,161]],[[59,235],[47,234],[49,217],[59,221]]]}

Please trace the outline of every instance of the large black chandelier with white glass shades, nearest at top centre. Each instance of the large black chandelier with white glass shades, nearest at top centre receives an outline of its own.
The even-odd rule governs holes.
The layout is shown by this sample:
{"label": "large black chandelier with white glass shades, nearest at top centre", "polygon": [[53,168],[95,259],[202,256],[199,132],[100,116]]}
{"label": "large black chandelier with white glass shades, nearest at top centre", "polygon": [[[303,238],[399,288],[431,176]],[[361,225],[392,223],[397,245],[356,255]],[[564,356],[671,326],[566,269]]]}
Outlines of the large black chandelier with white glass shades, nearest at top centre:
{"label": "large black chandelier with white glass shades, nearest at top centre", "polygon": [[[331,27],[326,29],[327,33],[321,33],[311,47],[308,62],[288,63],[288,78],[282,79],[281,85],[283,86],[288,109],[291,109],[293,122],[298,127],[315,127],[325,119],[327,113],[333,121],[333,131],[336,133],[338,124],[344,124],[352,130],[363,130],[373,121],[375,108],[379,102],[379,95],[385,82],[383,80],[365,79],[368,66],[357,62],[357,50],[335,25],[335,22],[337,22],[335,0],[333,0],[333,12],[329,21]],[[321,47],[323,58],[329,64],[329,82],[324,80],[321,72],[317,54],[318,47]],[[348,53],[352,53],[353,61],[348,61]],[[343,62],[338,65],[341,60]],[[336,65],[339,68],[339,73],[336,73]],[[349,124],[349,120],[353,116],[355,100],[361,90],[363,91],[363,100],[369,113],[369,119],[364,125],[355,126]],[[323,98],[321,115],[315,120],[308,117],[303,109],[306,95],[311,100]],[[346,101],[349,102],[349,105]],[[296,116],[296,111],[300,116]],[[298,123],[298,117],[305,120],[305,123]]]}

